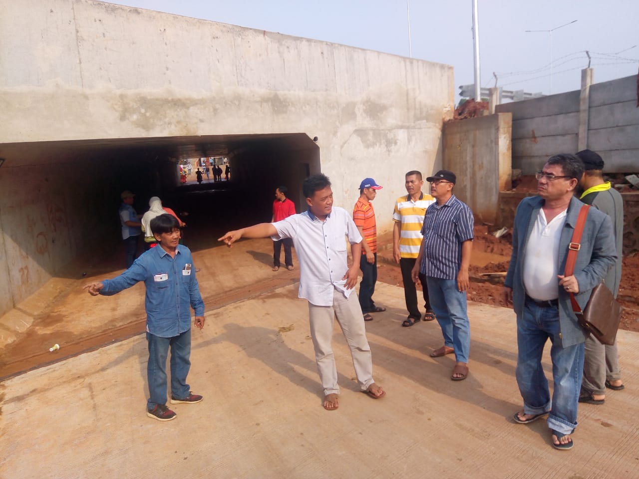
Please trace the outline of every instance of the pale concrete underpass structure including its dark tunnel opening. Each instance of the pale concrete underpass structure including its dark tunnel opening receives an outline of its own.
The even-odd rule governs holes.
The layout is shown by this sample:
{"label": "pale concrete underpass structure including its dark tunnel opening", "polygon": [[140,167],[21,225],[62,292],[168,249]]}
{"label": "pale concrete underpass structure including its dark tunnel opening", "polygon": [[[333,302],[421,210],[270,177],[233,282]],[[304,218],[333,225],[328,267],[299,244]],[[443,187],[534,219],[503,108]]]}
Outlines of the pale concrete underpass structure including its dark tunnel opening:
{"label": "pale concrete underpass structure including its dark tunnel opening", "polygon": [[180,158],[228,156],[247,222],[282,183],[299,208],[309,173],[345,208],[373,176],[381,231],[404,172],[441,164],[451,66],[94,0],[0,8],[0,314],[120,248],[119,192],[144,211]]}

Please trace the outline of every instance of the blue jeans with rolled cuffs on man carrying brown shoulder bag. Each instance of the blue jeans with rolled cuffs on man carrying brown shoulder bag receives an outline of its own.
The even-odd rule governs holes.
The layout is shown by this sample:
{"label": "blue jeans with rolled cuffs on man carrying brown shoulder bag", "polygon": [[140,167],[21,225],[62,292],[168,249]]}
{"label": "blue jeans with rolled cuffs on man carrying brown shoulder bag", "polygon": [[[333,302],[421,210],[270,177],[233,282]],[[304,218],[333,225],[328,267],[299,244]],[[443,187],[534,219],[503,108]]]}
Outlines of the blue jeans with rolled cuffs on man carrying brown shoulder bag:
{"label": "blue jeans with rolled cuffs on man carrying brown shoulder bag", "polygon": [[[550,411],[548,427],[571,434],[577,426],[577,406],[583,372],[583,342],[562,347],[557,307],[541,307],[526,298],[517,317],[517,384],[525,414]],[[541,365],[546,340],[550,338],[553,363],[553,397]]]}

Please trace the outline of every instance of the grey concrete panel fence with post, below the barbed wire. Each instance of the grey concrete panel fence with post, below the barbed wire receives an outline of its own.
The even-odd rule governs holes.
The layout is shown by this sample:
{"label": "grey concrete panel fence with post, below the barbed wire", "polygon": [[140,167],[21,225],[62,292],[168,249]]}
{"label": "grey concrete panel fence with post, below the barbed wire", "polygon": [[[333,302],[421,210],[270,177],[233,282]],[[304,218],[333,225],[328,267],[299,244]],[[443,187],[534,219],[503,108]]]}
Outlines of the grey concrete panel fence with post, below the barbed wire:
{"label": "grey concrete panel fence with post, below the barbed wire", "polygon": [[497,105],[497,112],[512,113],[513,168],[534,174],[555,153],[589,148],[602,156],[605,172],[639,171],[637,77],[588,82],[581,90]]}

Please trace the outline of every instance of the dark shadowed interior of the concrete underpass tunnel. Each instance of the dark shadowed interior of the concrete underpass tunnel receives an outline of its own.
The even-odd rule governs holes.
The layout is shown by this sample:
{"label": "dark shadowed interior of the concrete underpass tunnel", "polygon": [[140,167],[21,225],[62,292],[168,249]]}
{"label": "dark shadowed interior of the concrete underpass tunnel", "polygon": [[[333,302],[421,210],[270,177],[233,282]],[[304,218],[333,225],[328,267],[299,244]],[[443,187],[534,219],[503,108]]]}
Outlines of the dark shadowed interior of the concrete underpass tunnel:
{"label": "dark shadowed interior of the concrete underpass tunnel", "polygon": [[[198,185],[191,174],[189,183],[180,183],[180,160],[192,158],[195,171],[195,158],[213,156],[227,158],[229,181]],[[5,160],[3,174],[39,176],[41,181],[25,183],[37,189],[34,201],[40,197],[42,202],[63,205],[59,215],[76,225],[70,226],[73,238],[68,247],[73,252],[65,258],[70,261],[49,259],[41,264],[51,275],[66,275],[68,263],[86,254],[98,255],[102,268],[122,267],[118,208],[123,190],[134,192],[140,215],[147,211],[150,197],[160,197],[163,206],[187,224],[185,244],[199,250],[219,246],[217,238],[229,229],[269,222],[278,186],[288,187],[296,211],[305,208],[302,181],[321,170],[319,147],[305,133],[13,143],[0,145],[0,157]],[[30,234],[28,226],[19,227],[18,218],[29,209],[19,210],[5,205],[2,211],[3,229],[16,243]]]}

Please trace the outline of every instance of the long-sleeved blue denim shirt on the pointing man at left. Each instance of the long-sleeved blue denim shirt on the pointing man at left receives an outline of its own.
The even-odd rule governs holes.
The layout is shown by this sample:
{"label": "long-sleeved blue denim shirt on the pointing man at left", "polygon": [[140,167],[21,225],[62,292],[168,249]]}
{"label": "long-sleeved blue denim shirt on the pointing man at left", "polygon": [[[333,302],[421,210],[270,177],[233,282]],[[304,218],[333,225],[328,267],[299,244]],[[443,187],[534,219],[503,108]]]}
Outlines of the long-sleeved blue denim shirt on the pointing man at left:
{"label": "long-sleeved blue denim shirt on the pointing man at left", "polygon": [[146,331],[162,338],[178,336],[191,327],[192,307],[204,316],[204,301],[197,286],[189,248],[178,245],[172,258],[161,246],[142,254],[127,271],[104,280],[100,294],[112,296],[139,281],[146,286]]}

